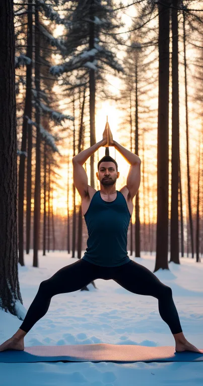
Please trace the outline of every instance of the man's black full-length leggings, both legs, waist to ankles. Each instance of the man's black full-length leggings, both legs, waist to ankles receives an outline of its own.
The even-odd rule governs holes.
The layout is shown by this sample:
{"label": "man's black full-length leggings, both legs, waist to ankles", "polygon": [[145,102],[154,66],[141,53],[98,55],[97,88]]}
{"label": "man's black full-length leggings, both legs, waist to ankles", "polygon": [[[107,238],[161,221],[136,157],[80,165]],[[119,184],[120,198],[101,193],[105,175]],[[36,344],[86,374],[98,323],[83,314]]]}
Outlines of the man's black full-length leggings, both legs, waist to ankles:
{"label": "man's black full-length leggings, both legs, waist to ankles", "polygon": [[182,332],[171,288],[148,268],[133,260],[118,267],[101,267],[84,259],[66,265],[41,282],[20,329],[28,332],[47,313],[54,295],[78,291],[95,279],[113,279],[127,291],[157,298],[161,318],[168,324],[172,334]]}

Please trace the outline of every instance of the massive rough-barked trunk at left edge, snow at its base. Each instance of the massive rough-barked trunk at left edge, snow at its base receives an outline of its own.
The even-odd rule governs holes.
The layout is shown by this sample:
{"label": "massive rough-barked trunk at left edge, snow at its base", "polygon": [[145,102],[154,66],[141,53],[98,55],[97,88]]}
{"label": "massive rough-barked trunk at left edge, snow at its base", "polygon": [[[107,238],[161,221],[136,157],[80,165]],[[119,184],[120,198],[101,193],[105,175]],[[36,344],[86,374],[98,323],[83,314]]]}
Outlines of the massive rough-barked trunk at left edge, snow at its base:
{"label": "massive rough-barked trunk at left edge, snow at its base", "polygon": [[18,316],[22,298],[18,278],[17,134],[13,0],[0,12],[0,308]]}

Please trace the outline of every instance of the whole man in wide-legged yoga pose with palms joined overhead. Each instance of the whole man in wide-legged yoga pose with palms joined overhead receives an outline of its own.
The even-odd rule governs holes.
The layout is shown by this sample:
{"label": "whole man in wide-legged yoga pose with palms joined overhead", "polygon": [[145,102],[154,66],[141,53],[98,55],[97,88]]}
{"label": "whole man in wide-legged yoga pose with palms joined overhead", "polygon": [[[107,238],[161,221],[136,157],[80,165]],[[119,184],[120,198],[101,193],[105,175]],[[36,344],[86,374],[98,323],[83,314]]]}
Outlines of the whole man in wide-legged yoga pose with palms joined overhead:
{"label": "whole man in wide-legged yoga pose with palms joined overhead", "polygon": [[[110,156],[104,156],[98,162],[96,176],[101,190],[97,191],[88,185],[88,177],[82,165],[107,142],[107,146],[115,146],[123,155],[130,169],[126,185],[116,190],[116,179],[119,177],[117,163]],[[19,330],[0,345],[0,351],[24,350],[24,336],[47,313],[53,296],[78,291],[91,281],[102,278],[113,279],[134,294],[157,298],[160,316],[175,338],[176,351],[201,352],[182,333],[171,288],[149,269],[127,256],[127,229],[133,211],[132,199],[137,194],[141,179],[140,158],[115,142],[112,136],[109,135],[107,139],[103,135],[100,142],[73,158],[73,168],[74,183],[82,199],[82,211],[88,229],[86,252],[82,259],[59,269],[40,283]]]}

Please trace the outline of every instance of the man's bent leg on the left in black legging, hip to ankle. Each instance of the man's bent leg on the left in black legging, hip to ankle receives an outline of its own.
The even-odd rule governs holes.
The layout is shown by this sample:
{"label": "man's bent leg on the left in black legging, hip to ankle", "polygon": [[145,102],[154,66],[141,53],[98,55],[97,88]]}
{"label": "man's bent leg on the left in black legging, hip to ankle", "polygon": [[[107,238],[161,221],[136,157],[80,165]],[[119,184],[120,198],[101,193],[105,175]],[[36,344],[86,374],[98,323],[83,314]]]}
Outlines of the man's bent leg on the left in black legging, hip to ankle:
{"label": "man's bent leg on the left in black legging, hip to ankle", "polygon": [[97,278],[97,266],[80,259],[59,269],[39,285],[37,295],[31,303],[21,330],[28,332],[48,311],[51,298],[57,294],[78,291]]}

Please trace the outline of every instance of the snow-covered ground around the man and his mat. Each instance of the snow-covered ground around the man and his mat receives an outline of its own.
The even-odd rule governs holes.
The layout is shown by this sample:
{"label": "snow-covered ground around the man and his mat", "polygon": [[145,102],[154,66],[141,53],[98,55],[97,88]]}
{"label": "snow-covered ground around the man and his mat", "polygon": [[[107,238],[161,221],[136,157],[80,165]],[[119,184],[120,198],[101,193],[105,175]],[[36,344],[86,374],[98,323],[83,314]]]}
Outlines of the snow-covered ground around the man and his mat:
{"label": "snow-covered ground around the man and his mat", "polygon": [[[129,252],[128,252],[129,253]],[[76,255],[77,256],[77,255]],[[33,253],[25,255],[19,266],[19,281],[26,314],[41,281],[61,267],[77,261],[66,252],[39,253],[39,268],[32,266]],[[154,270],[155,255],[130,258]],[[180,258],[181,265],[170,263],[170,271],[156,276],[173,291],[180,323],[186,339],[203,349],[203,264]],[[161,319],[158,300],[127,292],[113,280],[95,280],[97,289],[60,294],[52,298],[46,315],[25,337],[25,346],[73,345],[90,343],[171,346],[175,341]],[[0,344],[9,339],[22,321],[0,310]],[[175,346],[174,346],[175,347]],[[203,384],[203,362],[126,363],[40,362],[0,363],[1,386],[32,385],[183,385]]]}

